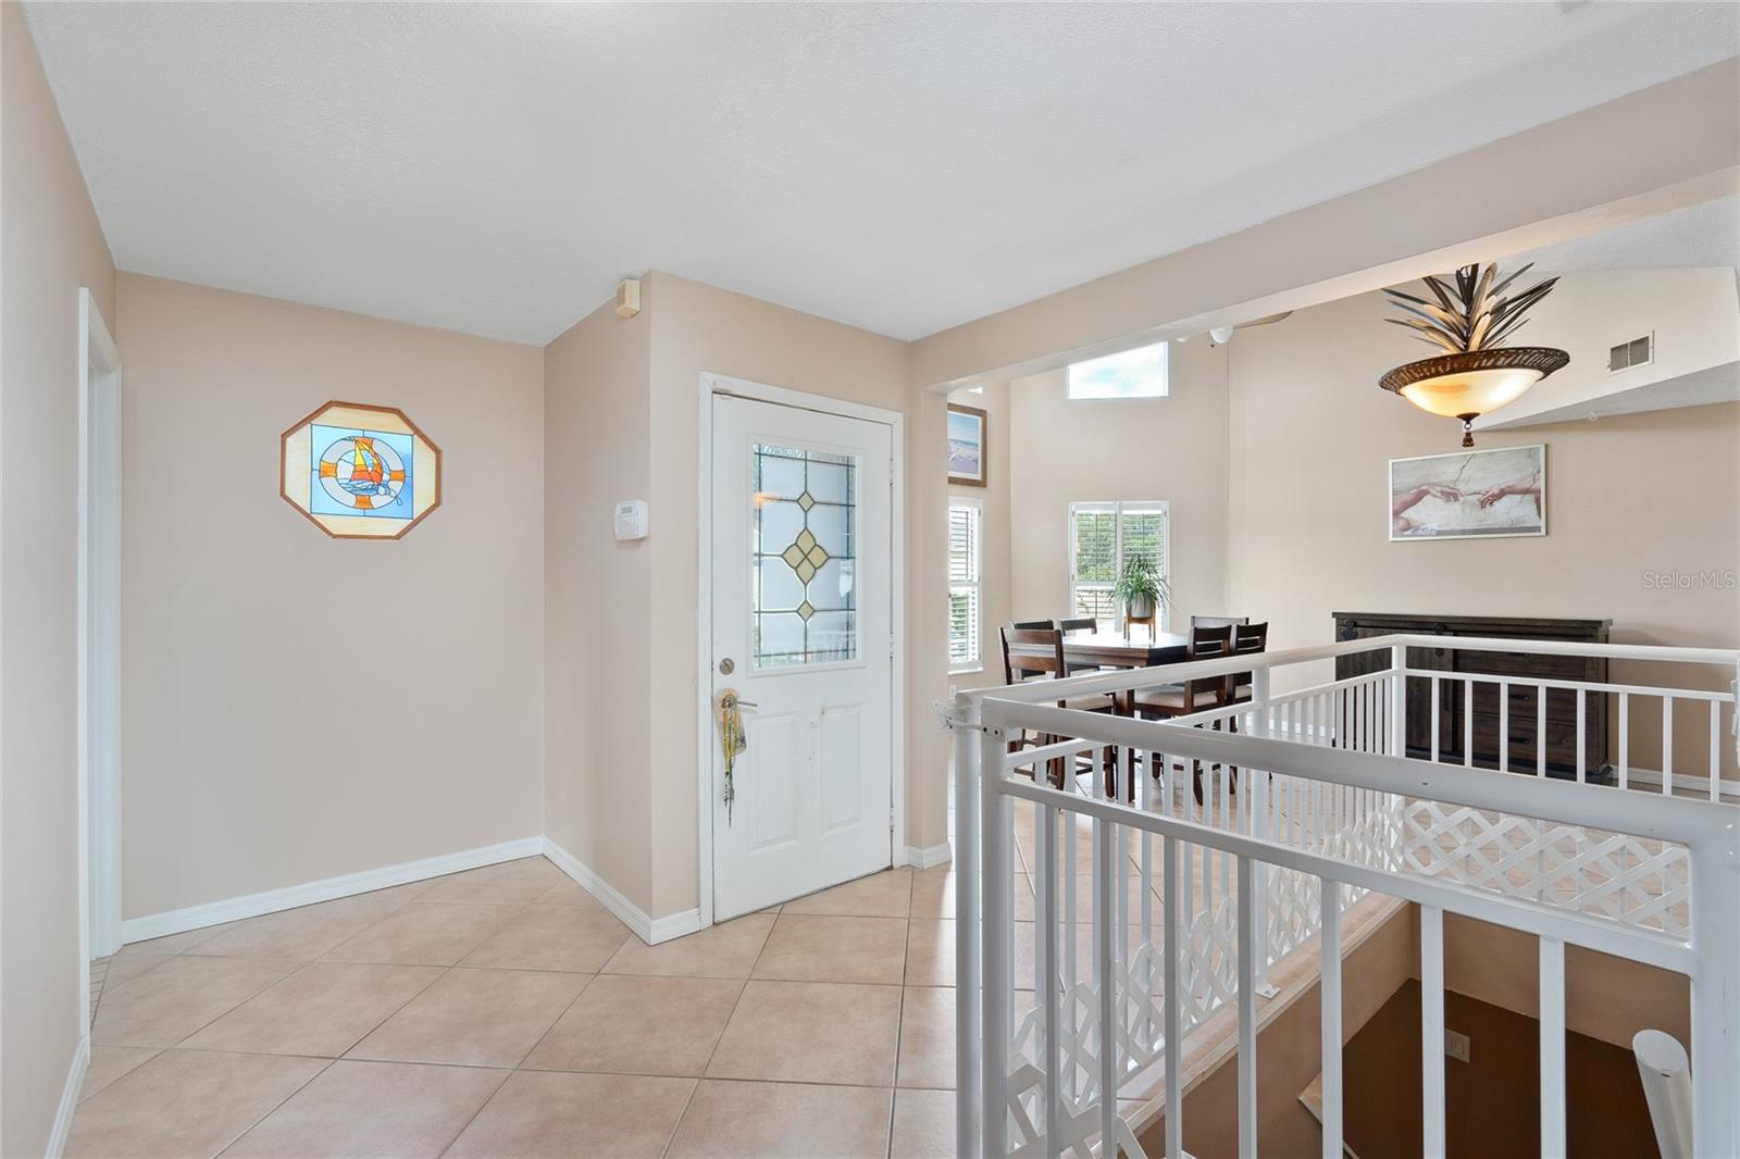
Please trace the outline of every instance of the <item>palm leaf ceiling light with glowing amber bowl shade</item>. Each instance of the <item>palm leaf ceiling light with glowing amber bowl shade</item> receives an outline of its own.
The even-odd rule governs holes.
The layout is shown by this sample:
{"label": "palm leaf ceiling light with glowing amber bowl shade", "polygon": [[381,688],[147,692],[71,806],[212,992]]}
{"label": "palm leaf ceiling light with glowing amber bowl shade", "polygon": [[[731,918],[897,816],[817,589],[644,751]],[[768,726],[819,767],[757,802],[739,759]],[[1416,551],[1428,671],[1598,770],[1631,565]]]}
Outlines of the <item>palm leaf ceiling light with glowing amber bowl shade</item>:
{"label": "palm leaf ceiling light with glowing amber bowl shade", "polygon": [[[1533,263],[1531,263],[1533,265]],[[1456,285],[1427,277],[1436,301],[1387,289],[1390,305],[1406,313],[1385,318],[1406,325],[1423,343],[1444,353],[1399,365],[1378,386],[1394,392],[1430,414],[1462,419],[1462,446],[1474,446],[1474,419],[1514,402],[1524,390],[1571,362],[1550,346],[1505,346],[1522,329],[1528,310],[1547,296],[1559,278],[1536,282],[1505,296],[1529,266],[1500,280],[1498,266],[1462,266]]]}

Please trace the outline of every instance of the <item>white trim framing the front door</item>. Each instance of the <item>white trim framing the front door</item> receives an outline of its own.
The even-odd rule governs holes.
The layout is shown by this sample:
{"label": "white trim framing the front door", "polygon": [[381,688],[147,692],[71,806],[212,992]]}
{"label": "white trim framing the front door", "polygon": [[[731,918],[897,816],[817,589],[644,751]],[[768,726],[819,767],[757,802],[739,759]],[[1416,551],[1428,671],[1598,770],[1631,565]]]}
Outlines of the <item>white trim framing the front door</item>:
{"label": "white trim framing the front door", "polygon": [[708,673],[713,665],[713,526],[708,513],[713,510],[713,395],[733,395],[773,402],[802,411],[820,411],[821,414],[839,414],[842,418],[882,423],[891,430],[889,440],[889,809],[894,814],[894,832],[889,844],[889,863],[907,861],[907,480],[903,444],[905,416],[898,411],[867,407],[858,402],[844,402],[825,395],[813,395],[785,386],[752,383],[726,374],[701,374],[701,484],[699,484],[699,553],[696,557],[701,580],[699,625],[696,633],[694,682],[699,701],[699,745],[696,747],[696,794],[699,801],[699,818],[696,837],[699,841],[699,894],[701,894],[701,929],[713,924],[713,754],[719,741],[713,734],[713,698]]}

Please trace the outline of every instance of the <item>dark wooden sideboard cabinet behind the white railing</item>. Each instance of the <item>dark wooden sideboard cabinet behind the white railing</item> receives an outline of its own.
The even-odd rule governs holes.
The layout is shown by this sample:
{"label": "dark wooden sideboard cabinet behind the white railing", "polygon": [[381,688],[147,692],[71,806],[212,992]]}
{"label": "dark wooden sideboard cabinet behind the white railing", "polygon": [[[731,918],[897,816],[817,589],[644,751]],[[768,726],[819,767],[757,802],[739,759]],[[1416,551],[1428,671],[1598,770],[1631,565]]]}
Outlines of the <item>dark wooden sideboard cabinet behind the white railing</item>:
{"label": "dark wooden sideboard cabinet behind the white railing", "polygon": [[[1362,640],[1376,635],[1408,632],[1415,635],[1441,635],[1442,647],[1408,649],[1411,670],[1437,670],[1449,679],[1437,680],[1437,759],[1465,762],[1465,743],[1470,733],[1463,720],[1472,717],[1474,764],[1482,769],[1502,767],[1498,760],[1498,686],[1489,680],[1474,684],[1472,703],[1467,686],[1455,679],[1462,673],[1484,677],[1524,677],[1547,680],[1590,680],[1604,684],[1608,661],[1599,656],[1542,656],[1538,653],[1486,653],[1458,649],[1462,637],[1498,637],[1509,640],[1571,640],[1580,644],[1606,644],[1611,620],[1535,620],[1528,616],[1411,616],[1397,613],[1335,613],[1336,640]],[[1335,661],[1336,679],[1364,675],[1389,668],[1389,653],[1361,653],[1340,656]],[[1408,680],[1408,755],[1432,755],[1432,680]],[[1608,764],[1608,696],[1587,693],[1583,707],[1583,745],[1589,780],[1611,778]],[[1535,687],[1510,689],[1509,710],[1509,767],[1516,773],[1535,773],[1540,755],[1540,729],[1547,731],[1547,774],[1576,776],[1576,693],[1547,689],[1545,712]],[[1542,719],[1545,717],[1545,719]]]}

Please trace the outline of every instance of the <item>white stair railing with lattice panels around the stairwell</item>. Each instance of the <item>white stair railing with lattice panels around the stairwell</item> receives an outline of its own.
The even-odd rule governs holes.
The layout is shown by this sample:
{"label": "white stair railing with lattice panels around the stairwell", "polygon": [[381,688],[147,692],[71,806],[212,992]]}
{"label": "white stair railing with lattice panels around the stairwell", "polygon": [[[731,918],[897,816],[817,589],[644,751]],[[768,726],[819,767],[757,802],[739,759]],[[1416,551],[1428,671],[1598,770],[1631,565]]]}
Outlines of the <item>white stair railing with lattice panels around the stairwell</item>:
{"label": "white stair railing with lattice panels around the stairwell", "polygon": [[[1698,1089],[1737,1089],[1740,809],[1712,804],[1719,792],[1681,799],[1676,790],[1683,785],[1670,771],[1665,794],[1620,794],[1476,767],[1446,776],[1442,764],[1406,759],[1404,680],[1432,675],[1409,670],[1406,651],[1437,644],[1437,637],[1385,637],[957,700],[960,1154],[1088,1154],[1107,1136],[1141,1154],[1117,1114],[1115,1095],[1150,1067],[1164,1067],[1168,1154],[1180,1156],[1181,1046],[1194,1027],[1228,1008],[1237,1009],[1241,1049],[1241,1150],[1255,1154],[1256,999],[1265,994],[1267,969],[1315,935],[1324,962],[1333,961],[1326,971],[1338,973],[1340,915],[1368,891],[1422,907],[1429,1044],[1441,1039],[1430,1028],[1442,1027],[1446,910],[1540,938],[1545,1154],[1564,1147],[1566,943],[1688,975],[1700,1028],[1693,1042]],[[1455,646],[1536,649],[1516,640],[1458,639]],[[1596,647],[1615,658],[1723,663],[1730,670],[1740,660],[1714,649]],[[1279,668],[1373,649],[1389,651],[1387,668],[1270,694]],[[1176,722],[1054,707],[1060,696],[1241,670],[1253,672],[1251,701]],[[1502,682],[1524,684],[1514,677]],[[1723,712],[1733,712],[1731,693],[1616,687],[1589,684],[1578,694],[1703,700],[1712,729]],[[1670,712],[1665,719],[1670,726]],[[1009,752],[1007,741],[1021,733],[1065,740]],[[1121,781],[1112,797],[1098,773],[1088,792],[1074,776],[1061,790],[1044,783],[1047,760],[1075,767],[1077,759],[1091,760],[1107,745],[1119,747],[1134,787]],[[1719,781],[1721,759],[1721,748],[1712,747],[1709,785]],[[1201,804],[1194,801],[1199,764]],[[1242,792],[1234,787],[1234,769]],[[1034,780],[1023,776],[1035,771]],[[1578,773],[1589,780],[1582,754]],[[1703,778],[1696,787],[1703,788]],[[1034,827],[1023,854],[1016,854],[1018,806],[1023,823],[1030,811]],[[1084,868],[1077,858],[1081,825],[1088,827],[1091,874],[1086,922],[1079,921],[1075,881]],[[1016,856],[1035,884],[1034,922],[1020,922],[1021,943],[1011,884]],[[1710,917],[1700,924],[1700,914]],[[1018,976],[1016,947],[1025,952],[1027,938],[1034,968]],[[1340,1032],[1331,1035],[1331,1028],[1340,1025],[1340,988],[1324,985],[1322,992],[1324,1154],[1338,1156]],[[1028,995],[1032,1009],[1018,1009],[1018,994]],[[1427,1154],[1442,1154],[1441,1041],[1425,1049],[1423,1063],[1423,1143]],[[1696,1102],[1695,1131],[1728,1154],[1740,1136],[1733,1107],[1724,1110],[1723,1102],[1709,1095]]]}

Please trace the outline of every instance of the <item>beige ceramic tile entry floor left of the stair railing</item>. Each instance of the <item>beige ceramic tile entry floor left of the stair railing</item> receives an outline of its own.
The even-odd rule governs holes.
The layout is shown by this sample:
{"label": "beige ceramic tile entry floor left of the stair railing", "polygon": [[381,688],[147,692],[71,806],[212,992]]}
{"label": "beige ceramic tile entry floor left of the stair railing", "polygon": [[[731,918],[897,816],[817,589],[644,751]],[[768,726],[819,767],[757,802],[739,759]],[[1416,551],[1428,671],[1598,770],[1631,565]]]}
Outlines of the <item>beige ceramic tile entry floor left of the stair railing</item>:
{"label": "beige ceramic tile entry floor left of the stair railing", "polygon": [[952,917],[898,868],[646,947],[529,858],[129,945],[66,1154],[947,1156]]}

